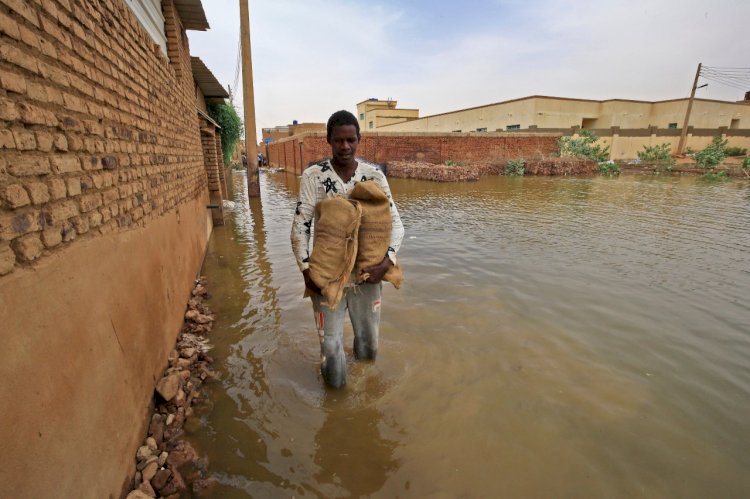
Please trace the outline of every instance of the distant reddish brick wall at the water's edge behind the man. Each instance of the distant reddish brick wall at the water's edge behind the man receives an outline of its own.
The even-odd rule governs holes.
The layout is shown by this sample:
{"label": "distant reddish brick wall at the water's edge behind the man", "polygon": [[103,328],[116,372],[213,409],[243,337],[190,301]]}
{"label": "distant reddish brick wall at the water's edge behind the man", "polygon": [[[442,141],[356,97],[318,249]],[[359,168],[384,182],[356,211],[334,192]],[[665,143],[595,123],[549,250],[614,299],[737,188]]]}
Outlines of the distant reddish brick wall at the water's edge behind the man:
{"label": "distant reddish brick wall at the water's edge behind the man", "polygon": [[[357,155],[375,163],[420,161],[504,161],[542,157],[557,151],[560,134],[521,133],[363,133]],[[300,148],[300,144],[302,147]],[[312,162],[330,156],[325,133],[307,133],[272,142],[272,166],[301,173]],[[301,151],[301,152],[300,152]]]}

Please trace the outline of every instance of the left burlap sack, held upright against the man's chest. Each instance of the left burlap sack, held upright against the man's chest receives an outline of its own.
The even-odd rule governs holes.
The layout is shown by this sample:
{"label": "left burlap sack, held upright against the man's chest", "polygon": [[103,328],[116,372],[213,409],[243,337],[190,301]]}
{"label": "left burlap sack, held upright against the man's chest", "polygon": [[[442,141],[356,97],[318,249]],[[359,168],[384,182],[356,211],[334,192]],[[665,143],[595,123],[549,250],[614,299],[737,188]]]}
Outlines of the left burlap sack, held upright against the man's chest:
{"label": "left burlap sack, held upright against the man's chest", "polygon": [[331,308],[341,301],[354,268],[361,213],[359,203],[342,197],[324,199],[315,206],[310,278]]}

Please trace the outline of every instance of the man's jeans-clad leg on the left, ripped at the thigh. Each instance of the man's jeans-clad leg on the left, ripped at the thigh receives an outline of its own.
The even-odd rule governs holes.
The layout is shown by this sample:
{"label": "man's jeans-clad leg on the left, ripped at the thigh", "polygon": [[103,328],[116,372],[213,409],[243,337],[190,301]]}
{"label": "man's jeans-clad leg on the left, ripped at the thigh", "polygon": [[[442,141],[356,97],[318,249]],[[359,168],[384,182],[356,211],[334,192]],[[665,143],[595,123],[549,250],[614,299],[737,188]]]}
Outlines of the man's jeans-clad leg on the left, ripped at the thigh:
{"label": "man's jeans-clad leg on the left, ripped at the thigh", "polygon": [[325,298],[312,295],[315,327],[320,340],[320,373],[323,380],[333,388],[346,384],[346,354],[344,354],[344,318],[346,301],[342,300],[335,310],[326,304]]}

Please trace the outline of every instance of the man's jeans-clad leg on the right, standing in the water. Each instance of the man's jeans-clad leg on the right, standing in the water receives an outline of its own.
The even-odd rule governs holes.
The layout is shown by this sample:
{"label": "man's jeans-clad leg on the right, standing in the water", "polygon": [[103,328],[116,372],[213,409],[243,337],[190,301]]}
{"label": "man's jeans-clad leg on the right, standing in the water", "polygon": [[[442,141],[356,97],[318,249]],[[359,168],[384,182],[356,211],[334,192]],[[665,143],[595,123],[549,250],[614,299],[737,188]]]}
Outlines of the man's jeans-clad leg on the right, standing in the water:
{"label": "man's jeans-clad leg on the right, standing in the water", "polygon": [[354,355],[358,359],[375,360],[378,355],[380,302],[383,284],[362,283],[349,290],[346,303],[354,328]]}

